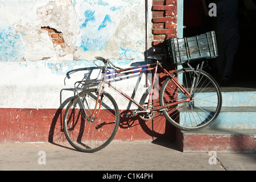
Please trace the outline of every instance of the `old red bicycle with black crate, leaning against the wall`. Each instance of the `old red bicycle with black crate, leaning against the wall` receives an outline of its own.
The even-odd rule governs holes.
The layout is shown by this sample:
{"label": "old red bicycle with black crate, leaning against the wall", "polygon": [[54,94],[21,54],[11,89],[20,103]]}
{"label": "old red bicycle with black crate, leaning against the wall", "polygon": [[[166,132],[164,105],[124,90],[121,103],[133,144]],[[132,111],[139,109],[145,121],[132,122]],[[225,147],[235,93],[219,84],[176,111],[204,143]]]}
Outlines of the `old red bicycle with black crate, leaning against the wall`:
{"label": "old red bicycle with black crate, leaning against the wall", "polygon": [[[101,77],[77,81],[77,95],[65,110],[64,133],[73,147],[82,152],[95,152],[106,147],[117,133],[119,109],[115,99],[105,91],[106,86],[137,106],[138,109],[130,115],[139,115],[144,120],[152,119],[155,113],[161,112],[167,121],[181,130],[200,130],[217,118],[222,104],[220,87],[212,76],[203,71],[205,59],[217,56],[214,32],[192,38],[170,39],[167,40],[167,45],[171,64],[186,64],[188,68],[170,74],[160,62],[166,55],[147,56],[147,59],[156,62],[126,69],[116,67],[109,59],[96,57],[96,60],[104,63],[100,67]],[[189,63],[195,60],[200,61],[193,68]],[[153,106],[151,96],[159,69],[167,75],[167,79],[160,89],[160,106]],[[154,72],[146,105],[139,104],[109,81],[122,72],[132,75],[144,71]],[[97,85],[97,88],[87,88],[79,93],[76,84]]]}

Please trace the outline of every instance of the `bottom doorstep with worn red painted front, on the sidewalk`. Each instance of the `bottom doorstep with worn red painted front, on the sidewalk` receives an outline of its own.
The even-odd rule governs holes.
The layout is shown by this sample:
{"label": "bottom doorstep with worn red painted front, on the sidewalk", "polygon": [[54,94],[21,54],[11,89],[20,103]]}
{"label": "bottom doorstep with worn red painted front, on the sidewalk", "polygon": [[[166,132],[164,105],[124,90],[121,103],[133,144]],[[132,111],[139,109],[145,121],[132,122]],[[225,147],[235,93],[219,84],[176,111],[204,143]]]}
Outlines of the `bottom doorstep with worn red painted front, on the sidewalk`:
{"label": "bottom doorstep with worn red painted front, on the sidewalk", "polygon": [[176,130],[176,143],[183,152],[256,152],[256,130],[216,129]]}

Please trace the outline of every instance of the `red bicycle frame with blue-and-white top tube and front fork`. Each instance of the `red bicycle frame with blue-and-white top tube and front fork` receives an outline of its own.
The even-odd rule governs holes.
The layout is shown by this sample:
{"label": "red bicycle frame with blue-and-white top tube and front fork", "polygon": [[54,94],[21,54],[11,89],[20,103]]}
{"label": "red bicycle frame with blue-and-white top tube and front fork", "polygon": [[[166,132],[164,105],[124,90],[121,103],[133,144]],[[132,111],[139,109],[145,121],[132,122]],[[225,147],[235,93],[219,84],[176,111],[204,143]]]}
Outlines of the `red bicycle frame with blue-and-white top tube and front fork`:
{"label": "red bicycle frame with blue-and-white top tube and front fork", "polygon": [[[107,65],[108,65],[108,63],[106,64],[106,67],[107,67]],[[156,61],[156,63],[154,63],[154,64],[146,64],[146,65],[141,65],[139,67],[119,69],[117,71],[111,71],[111,72],[107,72],[106,67],[105,67],[105,69],[102,69],[102,80],[101,80],[100,84],[98,85],[98,93],[101,93],[102,91],[104,92],[105,84],[107,84],[110,88],[114,89],[116,92],[121,94],[123,97],[125,97],[127,100],[129,100],[134,105],[138,106],[139,109],[141,109],[141,111],[137,111],[136,113],[142,113],[142,112],[150,113],[151,111],[160,111],[160,110],[165,109],[166,107],[170,107],[170,106],[173,106],[173,105],[177,105],[177,104],[181,104],[181,103],[184,103],[184,102],[191,101],[191,93],[187,92],[187,90],[185,90],[183,88],[183,86],[166,69],[164,69],[162,64],[160,64],[158,61]],[[150,68],[150,67],[152,67],[152,68]],[[151,104],[151,101],[152,101],[152,93],[153,93],[153,90],[154,90],[155,79],[156,79],[156,74],[157,74],[157,71],[158,71],[158,67],[160,67],[163,70],[163,72],[166,73],[166,75],[171,77],[172,81],[174,82],[174,85],[177,86],[181,90],[181,92],[183,92],[183,94],[185,94],[188,97],[187,99],[182,100],[182,101],[177,101],[177,102],[174,102],[174,103],[171,103],[171,104],[167,104],[167,105],[164,105],[164,106],[157,106],[155,108],[150,108],[150,104]],[[135,69],[139,69],[139,70],[135,70]],[[135,70],[135,71],[133,71],[133,70]],[[126,72],[126,71],[130,71],[130,72]],[[121,76],[122,72],[126,72],[125,74],[130,74],[131,75],[131,74],[134,74],[134,73],[145,72],[145,71],[154,71],[154,77],[152,79],[152,86],[151,86],[150,96],[148,98],[148,102],[147,102],[148,105],[147,105],[146,108],[143,107],[141,104],[139,104],[133,98],[128,96],[126,93],[124,93],[122,90],[120,90],[119,88],[117,88],[116,86],[114,86],[112,83],[110,83],[107,80],[107,78],[108,79],[113,78],[113,77],[116,77],[117,75]],[[114,75],[112,75],[112,74],[114,74]],[[101,97],[101,94],[98,94],[97,101],[96,101],[96,107],[95,107],[95,109],[94,109],[94,111],[93,111],[93,113],[91,114],[90,117],[92,117],[96,113],[98,102],[100,102],[100,108],[101,108],[102,97],[101,98],[100,97]],[[100,112],[98,112],[98,113],[100,113]],[[95,117],[97,117],[97,115]]]}

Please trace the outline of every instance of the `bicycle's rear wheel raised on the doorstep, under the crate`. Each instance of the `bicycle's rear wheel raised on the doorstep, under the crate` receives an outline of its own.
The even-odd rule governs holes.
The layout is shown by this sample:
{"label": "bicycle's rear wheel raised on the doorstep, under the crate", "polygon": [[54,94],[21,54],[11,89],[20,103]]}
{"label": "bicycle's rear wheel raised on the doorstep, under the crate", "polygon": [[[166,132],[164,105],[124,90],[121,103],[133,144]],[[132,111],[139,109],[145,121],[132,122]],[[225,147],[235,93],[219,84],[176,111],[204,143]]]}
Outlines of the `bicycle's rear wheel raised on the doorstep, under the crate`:
{"label": "bicycle's rear wheel raised on the doorstep, under the crate", "polygon": [[[199,73],[199,69],[196,72]],[[195,86],[193,82],[195,83],[197,76],[191,68],[180,69],[173,76],[183,85],[184,89],[189,93],[193,93],[193,86]],[[160,90],[160,105],[175,103],[187,98],[174,85],[172,79],[168,77]],[[163,114],[172,125],[180,130],[200,130],[209,126],[217,118],[221,110],[221,105],[222,96],[220,87],[212,76],[207,72],[201,71],[192,100],[167,107],[163,111]]]}

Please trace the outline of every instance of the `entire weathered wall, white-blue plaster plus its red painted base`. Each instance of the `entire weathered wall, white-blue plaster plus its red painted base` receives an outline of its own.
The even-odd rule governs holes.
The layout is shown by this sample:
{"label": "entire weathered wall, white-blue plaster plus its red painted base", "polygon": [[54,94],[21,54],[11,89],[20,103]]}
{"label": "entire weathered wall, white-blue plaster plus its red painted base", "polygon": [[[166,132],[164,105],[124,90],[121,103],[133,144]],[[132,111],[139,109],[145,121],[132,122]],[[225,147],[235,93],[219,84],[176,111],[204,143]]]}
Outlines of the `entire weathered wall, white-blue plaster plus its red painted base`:
{"label": "entire weathered wall, white-blue plaster plus its red painted base", "polygon": [[[147,20],[141,0],[0,1],[0,142],[64,140],[63,108],[76,81],[98,75],[95,56],[123,68],[146,63],[153,39],[151,7],[148,1]],[[84,67],[88,70],[66,77]],[[114,84],[130,96],[135,92],[138,101],[147,89],[144,74]],[[134,109],[109,92],[121,113]],[[142,129],[134,119],[122,122],[118,139],[151,139],[151,121]],[[165,127],[158,126],[164,134]]]}

